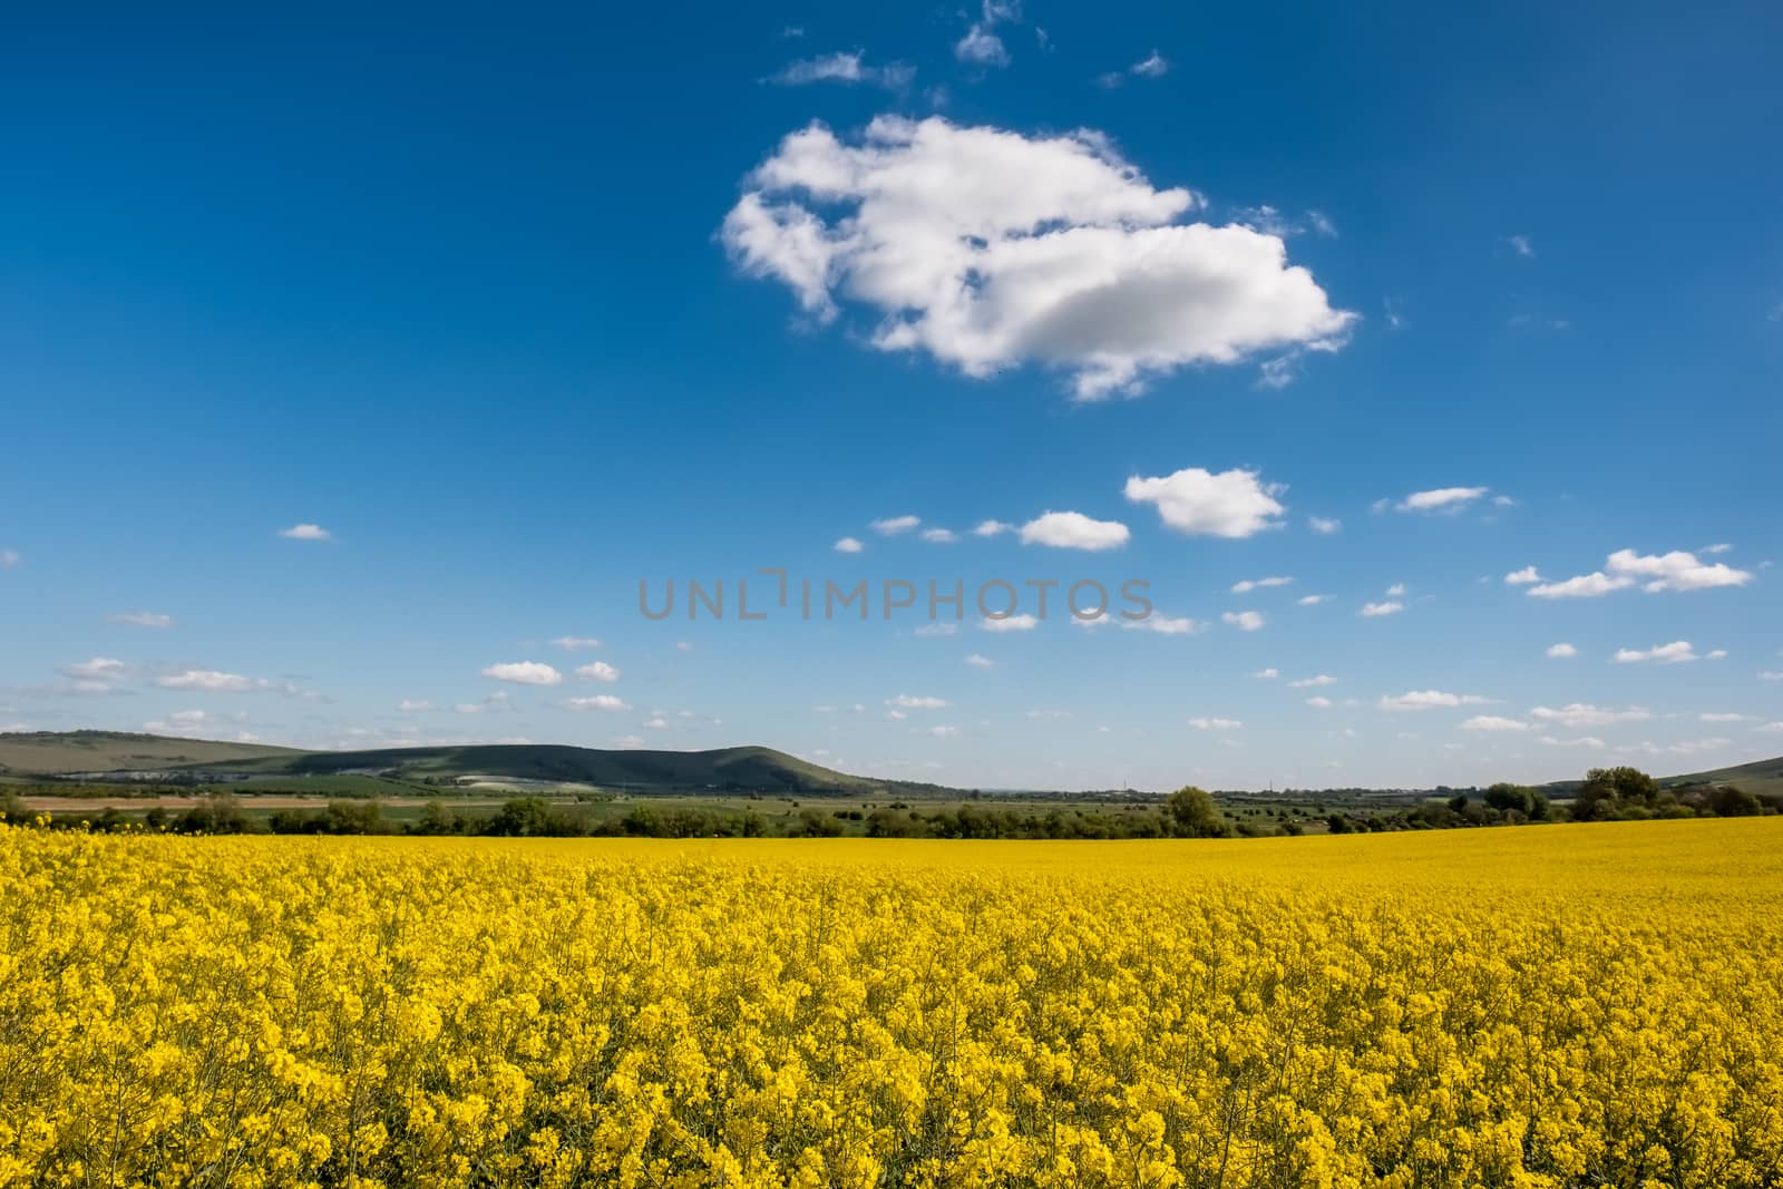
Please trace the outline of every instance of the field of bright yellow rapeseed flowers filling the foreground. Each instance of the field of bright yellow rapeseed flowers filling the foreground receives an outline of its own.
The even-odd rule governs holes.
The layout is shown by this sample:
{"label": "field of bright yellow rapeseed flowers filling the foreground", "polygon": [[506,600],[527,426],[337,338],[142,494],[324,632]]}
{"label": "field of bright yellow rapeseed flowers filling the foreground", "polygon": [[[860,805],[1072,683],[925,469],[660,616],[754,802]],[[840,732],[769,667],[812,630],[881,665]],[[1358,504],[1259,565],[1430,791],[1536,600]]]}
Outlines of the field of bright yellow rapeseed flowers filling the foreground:
{"label": "field of bright yellow rapeseed flowers filling the foreground", "polygon": [[0,827],[5,1185],[1774,1185],[1783,820]]}

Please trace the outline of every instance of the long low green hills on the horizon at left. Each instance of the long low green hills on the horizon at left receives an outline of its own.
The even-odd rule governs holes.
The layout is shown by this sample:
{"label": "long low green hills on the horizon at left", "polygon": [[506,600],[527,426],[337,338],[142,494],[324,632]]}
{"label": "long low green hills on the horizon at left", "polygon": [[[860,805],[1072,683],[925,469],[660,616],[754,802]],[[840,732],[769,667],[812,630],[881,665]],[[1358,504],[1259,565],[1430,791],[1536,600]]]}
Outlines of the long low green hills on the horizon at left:
{"label": "long low green hills on the horizon at left", "polygon": [[[637,791],[729,790],[767,793],[936,791],[934,784],[834,772],[770,747],[703,752],[599,750],[551,743],[390,747],[307,752],[253,743],[209,743],[153,734],[75,731],[0,734],[0,765],[12,775],[166,772],[169,777],[378,774],[403,781],[490,777],[597,784]],[[940,790],[950,791],[950,790]]]}

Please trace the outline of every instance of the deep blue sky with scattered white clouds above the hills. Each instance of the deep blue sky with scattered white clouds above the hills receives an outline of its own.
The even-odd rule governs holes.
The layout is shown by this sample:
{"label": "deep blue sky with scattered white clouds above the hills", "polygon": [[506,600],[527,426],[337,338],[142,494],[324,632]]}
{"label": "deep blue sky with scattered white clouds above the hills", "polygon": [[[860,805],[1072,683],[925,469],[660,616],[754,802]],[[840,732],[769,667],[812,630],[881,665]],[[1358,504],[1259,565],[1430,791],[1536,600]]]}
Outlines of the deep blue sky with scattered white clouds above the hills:
{"label": "deep blue sky with scattered white clouds above the hills", "polygon": [[[1778,754],[1779,46],[1758,4],[14,20],[0,729],[1048,788]],[[738,622],[758,567],[1141,579],[1168,629]],[[733,613],[647,620],[670,578]]]}

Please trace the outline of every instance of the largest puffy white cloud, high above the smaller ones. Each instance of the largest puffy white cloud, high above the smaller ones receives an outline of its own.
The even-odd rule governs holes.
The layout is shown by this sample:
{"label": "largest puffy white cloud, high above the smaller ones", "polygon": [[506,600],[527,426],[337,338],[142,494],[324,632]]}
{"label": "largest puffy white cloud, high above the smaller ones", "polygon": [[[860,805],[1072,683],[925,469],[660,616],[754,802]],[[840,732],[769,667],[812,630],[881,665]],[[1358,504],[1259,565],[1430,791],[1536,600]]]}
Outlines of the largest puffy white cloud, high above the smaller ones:
{"label": "largest puffy white cloud, high above the smaller ones", "polygon": [[818,319],[874,310],[874,346],[968,376],[1041,362],[1077,399],[1187,364],[1337,349],[1332,308],[1278,235],[1180,221],[1202,200],[1154,189],[1107,137],[1027,137],[933,116],[874,119],[858,143],[813,123],[745,180],[722,237]]}

